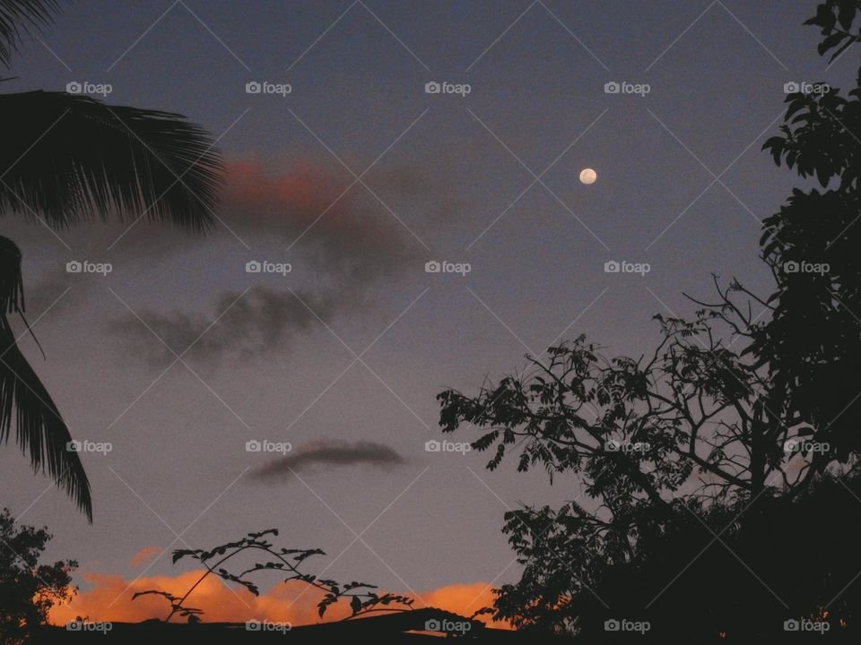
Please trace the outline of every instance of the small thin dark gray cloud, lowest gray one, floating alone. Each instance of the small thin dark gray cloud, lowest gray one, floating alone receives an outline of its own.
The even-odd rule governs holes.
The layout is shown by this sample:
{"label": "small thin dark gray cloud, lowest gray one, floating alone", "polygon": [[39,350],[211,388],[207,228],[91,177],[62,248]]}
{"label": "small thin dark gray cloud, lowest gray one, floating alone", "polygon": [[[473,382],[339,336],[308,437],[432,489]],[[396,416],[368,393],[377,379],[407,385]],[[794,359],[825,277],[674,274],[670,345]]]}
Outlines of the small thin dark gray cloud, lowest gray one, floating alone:
{"label": "small thin dark gray cloud, lowest gray one, floating alone", "polygon": [[296,454],[270,461],[252,471],[251,477],[258,480],[275,480],[291,477],[293,472],[317,467],[341,468],[368,465],[373,468],[388,469],[405,463],[406,460],[399,452],[382,443],[322,440],[306,443]]}

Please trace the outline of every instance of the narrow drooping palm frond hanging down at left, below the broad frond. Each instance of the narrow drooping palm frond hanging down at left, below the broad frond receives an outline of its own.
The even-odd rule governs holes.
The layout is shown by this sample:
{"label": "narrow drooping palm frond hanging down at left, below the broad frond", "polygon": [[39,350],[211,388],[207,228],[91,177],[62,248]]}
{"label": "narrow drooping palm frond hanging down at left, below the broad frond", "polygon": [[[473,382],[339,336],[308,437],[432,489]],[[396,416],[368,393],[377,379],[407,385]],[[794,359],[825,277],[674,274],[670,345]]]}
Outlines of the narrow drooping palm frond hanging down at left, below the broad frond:
{"label": "narrow drooping palm frond hanging down at left, below the broad frond", "polygon": [[8,315],[21,313],[21,251],[0,236],[0,442],[8,443],[14,420],[15,443],[30,454],[35,471],[48,475],[74,499],[92,521],[90,482],[78,453],[69,450],[72,435],[18,348]]}

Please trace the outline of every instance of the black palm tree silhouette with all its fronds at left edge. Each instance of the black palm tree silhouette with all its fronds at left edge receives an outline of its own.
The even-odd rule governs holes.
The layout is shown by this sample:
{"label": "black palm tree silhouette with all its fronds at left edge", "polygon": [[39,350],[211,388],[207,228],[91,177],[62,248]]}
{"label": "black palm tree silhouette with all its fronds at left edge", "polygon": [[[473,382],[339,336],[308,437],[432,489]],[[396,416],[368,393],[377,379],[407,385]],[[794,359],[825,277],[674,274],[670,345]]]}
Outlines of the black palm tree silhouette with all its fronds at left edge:
{"label": "black palm tree silhouette with all its fronds at left edge", "polygon": [[[55,0],[0,0],[0,64],[8,68],[22,37],[50,24],[57,9]],[[57,229],[124,212],[194,234],[213,227],[221,156],[183,116],[30,91],[0,94],[0,118],[0,215]],[[0,236],[0,442],[14,426],[34,471],[47,471],[92,521],[90,482],[67,449],[69,429],[10,325],[23,312],[21,250]]]}

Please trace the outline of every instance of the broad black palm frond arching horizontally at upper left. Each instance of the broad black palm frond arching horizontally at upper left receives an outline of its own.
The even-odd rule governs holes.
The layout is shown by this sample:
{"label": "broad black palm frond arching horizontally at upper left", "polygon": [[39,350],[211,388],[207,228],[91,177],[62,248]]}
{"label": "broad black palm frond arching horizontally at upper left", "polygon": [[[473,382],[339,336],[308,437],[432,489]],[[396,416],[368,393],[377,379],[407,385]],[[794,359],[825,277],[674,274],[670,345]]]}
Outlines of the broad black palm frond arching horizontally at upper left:
{"label": "broad black palm frond arching horizontally at upper left", "polygon": [[221,156],[182,116],[45,91],[0,95],[0,116],[0,211],[56,228],[124,212],[212,228]]}

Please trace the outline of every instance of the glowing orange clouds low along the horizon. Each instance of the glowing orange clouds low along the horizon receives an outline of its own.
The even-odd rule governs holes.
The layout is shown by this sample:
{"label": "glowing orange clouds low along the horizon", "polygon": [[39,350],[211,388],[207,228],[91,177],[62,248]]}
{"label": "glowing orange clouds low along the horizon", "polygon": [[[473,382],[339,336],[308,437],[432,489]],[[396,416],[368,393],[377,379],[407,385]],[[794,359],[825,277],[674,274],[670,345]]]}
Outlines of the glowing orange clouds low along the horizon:
{"label": "glowing orange clouds low along the horizon", "polygon": [[[143,596],[132,601],[132,596],[138,591],[160,589],[181,597],[202,574],[202,570],[194,570],[176,576],[148,576],[127,581],[117,575],[85,573],[83,577],[91,583],[91,589],[79,592],[68,605],[55,606],[49,621],[52,624],[65,624],[77,616],[114,623],[164,618],[170,612],[167,600],[159,596]],[[483,582],[450,585],[419,595],[424,602],[416,598],[416,607],[426,606],[427,603],[427,606],[467,616],[493,602],[491,588]],[[220,579],[209,576],[195,589],[186,604],[203,609],[205,613],[202,618],[209,623],[242,623],[254,618],[300,625],[321,622],[317,615],[317,603],[322,597],[323,592],[300,581],[276,584],[260,596],[254,596],[247,589],[228,588]],[[341,604],[344,606],[330,607],[322,622],[346,617],[349,610],[346,603]],[[483,618],[486,619],[486,616]],[[507,625],[495,623],[493,626]]]}

